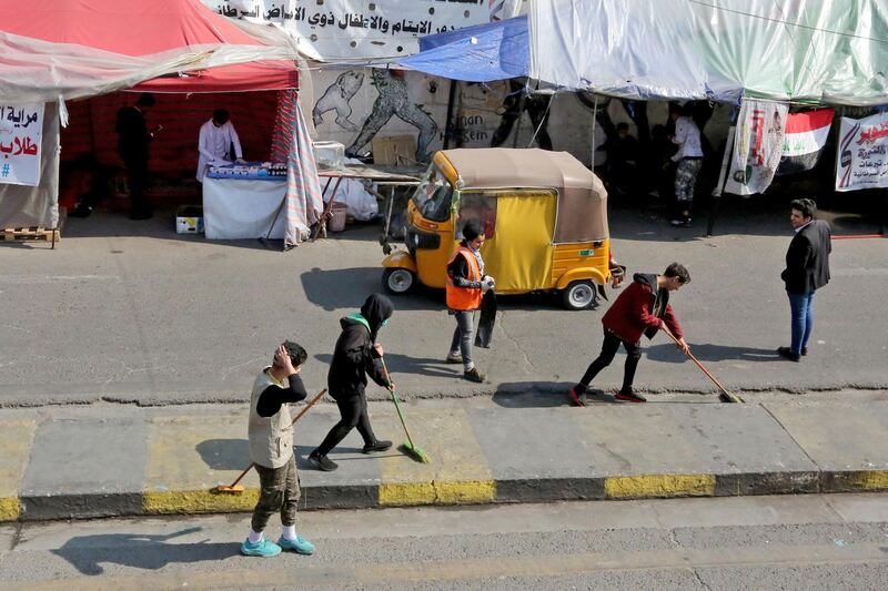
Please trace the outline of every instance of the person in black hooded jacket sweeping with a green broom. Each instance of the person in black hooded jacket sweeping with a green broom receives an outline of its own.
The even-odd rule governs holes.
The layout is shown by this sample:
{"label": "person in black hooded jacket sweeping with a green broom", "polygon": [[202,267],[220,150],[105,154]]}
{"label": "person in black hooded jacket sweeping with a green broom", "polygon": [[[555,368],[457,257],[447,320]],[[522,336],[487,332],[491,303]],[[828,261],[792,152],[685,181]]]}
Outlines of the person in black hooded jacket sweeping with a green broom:
{"label": "person in black hooded jacket sweeping with a green broom", "polygon": [[394,388],[383,369],[382,345],[376,343],[380,328],[393,313],[394,306],[387,297],[372,294],[361,306],[360,313],[340,319],[342,334],[336,340],[326,380],[330,396],[336,400],[342,419],[330,429],[317,449],[309,455],[309,462],[319,470],[330,472],[339,468],[326,455],[355,427],[364,438],[364,454],[385,451],[392,447],[391,441],[381,441],[373,434],[364,388],[367,376],[383,388]]}

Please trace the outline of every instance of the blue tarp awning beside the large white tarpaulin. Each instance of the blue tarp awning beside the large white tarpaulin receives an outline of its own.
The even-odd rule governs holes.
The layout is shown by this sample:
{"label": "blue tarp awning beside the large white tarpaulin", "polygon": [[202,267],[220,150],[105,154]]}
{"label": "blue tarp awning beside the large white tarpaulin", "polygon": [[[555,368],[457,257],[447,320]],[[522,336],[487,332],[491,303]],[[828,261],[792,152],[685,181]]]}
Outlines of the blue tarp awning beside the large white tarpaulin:
{"label": "blue tarp awning beside the large white tarpaulin", "polygon": [[531,61],[527,17],[423,37],[420,50],[397,60],[397,65],[466,82],[526,77]]}

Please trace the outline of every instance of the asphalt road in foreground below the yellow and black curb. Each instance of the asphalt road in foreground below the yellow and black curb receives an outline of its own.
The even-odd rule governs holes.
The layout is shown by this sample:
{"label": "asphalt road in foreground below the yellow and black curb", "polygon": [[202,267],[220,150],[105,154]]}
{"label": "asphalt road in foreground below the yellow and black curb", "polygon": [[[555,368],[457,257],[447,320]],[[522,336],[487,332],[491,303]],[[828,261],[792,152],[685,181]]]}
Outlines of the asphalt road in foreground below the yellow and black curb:
{"label": "asphalt road in foreground below the yellow and black curb", "polygon": [[240,556],[244,514],[7,526],[0,589],[835,591],[888,578],[886,495],[319,511],[297,527],[315,556]]}

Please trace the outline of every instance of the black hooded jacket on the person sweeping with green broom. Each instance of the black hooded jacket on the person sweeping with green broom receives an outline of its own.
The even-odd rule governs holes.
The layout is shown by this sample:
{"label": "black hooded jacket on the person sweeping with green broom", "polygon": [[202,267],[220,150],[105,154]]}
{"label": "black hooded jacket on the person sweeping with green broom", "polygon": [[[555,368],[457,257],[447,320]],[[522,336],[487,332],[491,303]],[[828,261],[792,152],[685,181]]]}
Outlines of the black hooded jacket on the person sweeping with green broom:
{"label": "black hooded jacket on the person sweeping with green broom", "polygon": [[379,294],[367,297],[360,314],[340,319],[342,334],[333,350],[326,381],[330,395],[336,399],[347,399],[363,394],[367,376],[382,387],[389,385],[373,344],[382,323],[387,320],[394,307],[392,302]]}

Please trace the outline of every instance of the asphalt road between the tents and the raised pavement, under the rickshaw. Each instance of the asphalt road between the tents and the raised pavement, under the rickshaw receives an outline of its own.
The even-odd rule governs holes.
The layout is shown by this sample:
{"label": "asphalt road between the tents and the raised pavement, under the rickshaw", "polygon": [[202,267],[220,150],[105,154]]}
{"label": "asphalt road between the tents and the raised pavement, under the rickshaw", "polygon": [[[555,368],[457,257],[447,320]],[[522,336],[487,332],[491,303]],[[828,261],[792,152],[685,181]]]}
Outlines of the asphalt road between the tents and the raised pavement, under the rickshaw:
{"label": "asphalt road between the tents and the raised pavement, under the rickshaw", "polygon": [[[693,281],[674,307],[693,350],[729,388],[888,386],[888,241],[836,241],[833,283],[815,302],[810,354],[790,364],[774,354],[789,339],[779,281],[791,232],[786,212],[737,206],[712,238],[700,237],[705,220],[673,228],[654,214],[612,212],[614,249],[630,273],[660,272],[673,261],[688,266]],[[839,232],[878,228],[828,216]],[[242,401],[284,338],[310,353],[307,386],[324,385],[339,318],[381,288],[379,226],[282,254],[255,241],[178,236],[169,222],[97,214],[70,220],[56,251],[0,248],[0,405]],[[381,342],[407,398],[563,391],[597,354],[605,309],[572,313],[543,296],[504,298],[493,348],[476,356],[488,383],[476,386],[442,363],[453,332],[443,295],[420,292],[395,304]],[[645,356],[639,389],[712,390],[665,338],[647,344]],[[617,388],[619,365],[622,354],[595,386]]]}

